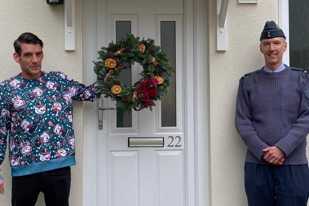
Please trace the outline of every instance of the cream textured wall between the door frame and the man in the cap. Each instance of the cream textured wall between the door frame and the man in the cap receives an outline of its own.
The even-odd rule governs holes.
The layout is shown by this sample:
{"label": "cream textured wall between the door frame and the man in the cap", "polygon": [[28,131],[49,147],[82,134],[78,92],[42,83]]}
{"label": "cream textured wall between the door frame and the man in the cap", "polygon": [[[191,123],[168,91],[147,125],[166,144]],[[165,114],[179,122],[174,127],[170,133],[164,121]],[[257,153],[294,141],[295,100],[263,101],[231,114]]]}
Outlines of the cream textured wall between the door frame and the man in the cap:
{"label": "cream textured wall between the door frame and the man in the cap", "polygon": [[209,1],[210,149],[212,206],[244,206],[246,146],[234,124],[239,78],[264,66],[259,37],[265,22],[277,19],[277,1],[229,1],[227,51],[216,51],[216,1]]}

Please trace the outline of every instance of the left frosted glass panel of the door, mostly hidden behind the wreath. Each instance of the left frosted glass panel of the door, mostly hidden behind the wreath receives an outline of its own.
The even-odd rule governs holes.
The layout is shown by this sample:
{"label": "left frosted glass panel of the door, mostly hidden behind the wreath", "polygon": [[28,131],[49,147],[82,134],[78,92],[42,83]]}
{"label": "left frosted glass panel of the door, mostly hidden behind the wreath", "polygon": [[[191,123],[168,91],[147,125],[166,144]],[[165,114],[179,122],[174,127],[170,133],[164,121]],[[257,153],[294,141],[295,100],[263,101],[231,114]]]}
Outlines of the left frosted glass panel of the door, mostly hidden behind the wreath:
{"label": "left frosted glass panel of the door, mostly hidden behind the wreath", "polygon": [[[131,21],[116,21],[116,42],[125,37],[126,34],[131,34]],[[122,84],[131,84],[131,65],[124,67],[120,72],[118,79]],[[117,127],[132,127],[132,113],[125,112],[117,107]]]}

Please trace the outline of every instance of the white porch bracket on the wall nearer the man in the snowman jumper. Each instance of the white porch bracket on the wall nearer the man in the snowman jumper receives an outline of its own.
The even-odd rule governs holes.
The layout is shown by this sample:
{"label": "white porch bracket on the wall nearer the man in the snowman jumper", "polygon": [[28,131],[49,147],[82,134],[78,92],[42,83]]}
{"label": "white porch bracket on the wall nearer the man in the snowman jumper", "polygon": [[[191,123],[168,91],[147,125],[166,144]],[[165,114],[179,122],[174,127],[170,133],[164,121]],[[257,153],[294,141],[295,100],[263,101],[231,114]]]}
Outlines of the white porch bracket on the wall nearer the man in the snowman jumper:
{"label": "white porch bracket on the wall nearer the man in the snowman jumper", "polygon": [[74,0],[64,1],[64,49],[75,50],[75,5]]}

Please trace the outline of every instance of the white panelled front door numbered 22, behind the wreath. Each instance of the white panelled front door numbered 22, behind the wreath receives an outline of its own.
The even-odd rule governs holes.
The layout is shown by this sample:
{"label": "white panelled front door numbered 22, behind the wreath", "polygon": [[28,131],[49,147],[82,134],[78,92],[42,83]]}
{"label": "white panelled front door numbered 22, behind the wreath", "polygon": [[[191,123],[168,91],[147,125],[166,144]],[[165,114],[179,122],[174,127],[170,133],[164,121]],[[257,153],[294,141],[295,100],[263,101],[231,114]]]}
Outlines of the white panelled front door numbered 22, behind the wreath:
{"label": "white panelled front door numbered 22, behind the wreath", "polygon": [[[108,175],[101,177],[107,187],[99,187],[98,195],[108,194],[110,206],[184,205],[183,2],[108,0],[106,8],[107,13],[99,15],[106,16],[107,29],[97,38],[106,36],[107,42],[116,42],[129,33],[155,39],[161,51],[168,53],[175,72],[168,96],[156,102],[152,112],[102,111],[105,125],[98,130],[98,137],[107,141],[98,144],[98,157],[107,157]],[[99,48],[107,45],[100,43]],[[134,84],[141,71],[142,67],[134,64],[122,71],[119,79]],[[102,105],[115,107],[115,102],[103,100]],[[163,138],[164,146],[129,147],[129,137]],[[104,146],[107,154],[99,149]],[[98,164],[104,165],[104,161],[98,160]],[[104,198],[101,201],[106,205]]]}

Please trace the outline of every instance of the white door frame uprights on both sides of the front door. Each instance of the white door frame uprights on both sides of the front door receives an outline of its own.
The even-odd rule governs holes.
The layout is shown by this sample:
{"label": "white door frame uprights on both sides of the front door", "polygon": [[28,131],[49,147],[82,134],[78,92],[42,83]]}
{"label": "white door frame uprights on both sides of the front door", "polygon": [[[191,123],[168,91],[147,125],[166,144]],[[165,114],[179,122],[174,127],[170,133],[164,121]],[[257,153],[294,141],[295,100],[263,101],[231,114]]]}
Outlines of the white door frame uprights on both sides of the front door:
{"label": "white door frame uprights on both sides of the front door", "polygon": [[[93,60],[97,57],[97,29],[107,28],[96,15],[106,8],[97,0],[83,1],[83,83],[96,80]],[[106,2],[106,0],[104,0]],[[185,205],[210,205],[209,42],[208,1],[184,0],[184,135]],[[206,11],[206,12],[205,12]],[[100,21],[102,27],[96,28]],[[88,70],[89,71],[89,70]],[[97,103],[96,103],[97,104]],[[83,102],[83,205],[97,205],[97,106]],[[99,141],[105,141],[100,140]],[[106,150],[106,148],[103,148]],[[107,150],[104,151],[107,154]],[[107,157],[107,155],[106,155]],[[107,158],[103,160],[107,166]],[[106,170],[107,174],[107,170]],[[105,184],[105,183],[104,183]]]}

